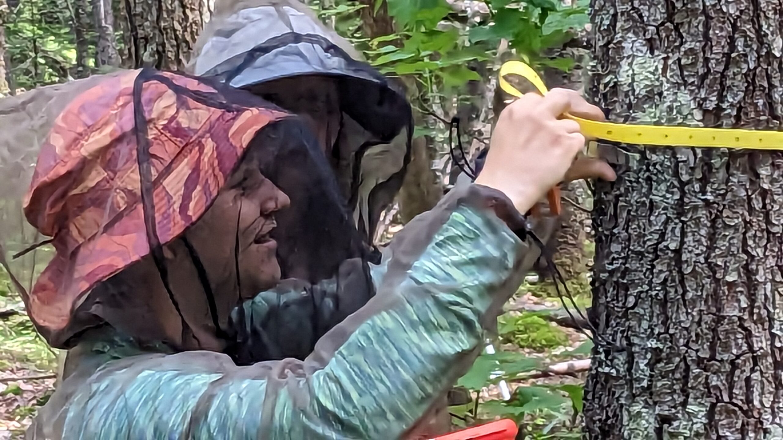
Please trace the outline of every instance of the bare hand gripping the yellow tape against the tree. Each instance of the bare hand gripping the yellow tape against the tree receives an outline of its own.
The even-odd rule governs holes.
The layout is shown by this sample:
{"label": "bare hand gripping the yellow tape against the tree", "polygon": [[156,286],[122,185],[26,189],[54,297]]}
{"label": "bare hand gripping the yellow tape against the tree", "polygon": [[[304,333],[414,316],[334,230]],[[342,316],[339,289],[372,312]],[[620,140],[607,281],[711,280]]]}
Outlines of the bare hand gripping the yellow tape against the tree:
{"label": "bare hand gripping the yellow tape against the tree", "polygon": [[529,93],[507,106],[475,182],[499,189],[524,213],[565,180],[614,180],[614,171],[602,160],[576,159],[586,139],[576,121],[562,117],[566,113],[604,120],[601,109],[564,88],[554,88],[546,96]]}

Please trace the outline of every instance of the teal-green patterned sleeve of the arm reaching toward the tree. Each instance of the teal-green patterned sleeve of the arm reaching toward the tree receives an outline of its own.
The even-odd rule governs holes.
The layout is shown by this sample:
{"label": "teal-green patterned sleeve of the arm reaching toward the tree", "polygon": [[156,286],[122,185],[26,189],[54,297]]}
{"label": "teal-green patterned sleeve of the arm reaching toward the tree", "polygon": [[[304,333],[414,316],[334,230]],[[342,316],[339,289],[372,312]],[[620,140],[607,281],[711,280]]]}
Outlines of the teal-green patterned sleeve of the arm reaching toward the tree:
{"label": "teal-green patterned sleeve of the arm reaching toward the tree", "polygon": [[31,438],[399,438],[471,366],[537,257],[511,232],[510,206],[469,186],[414,219],[377,295],[304,361],[113,360],[68,378]]}

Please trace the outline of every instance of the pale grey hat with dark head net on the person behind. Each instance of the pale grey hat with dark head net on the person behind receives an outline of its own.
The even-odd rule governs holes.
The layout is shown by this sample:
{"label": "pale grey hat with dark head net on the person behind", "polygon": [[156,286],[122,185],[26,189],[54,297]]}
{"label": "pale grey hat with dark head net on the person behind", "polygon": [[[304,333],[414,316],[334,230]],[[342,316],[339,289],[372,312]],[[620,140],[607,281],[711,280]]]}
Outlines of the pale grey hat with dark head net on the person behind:
{"label": "pale grey hat with dark head net on the person behind", "polygon": [[[357,228],[371,242],[410,160],[412,117],[402,88],[294,0],[216,2],[187,69],[294,113],[301,105],[290,103],[308,99],[310,88],[334,88],[331,107],[339,108],[340,122],[326,153]],[[291,86],[292,78],[301,81]]]}

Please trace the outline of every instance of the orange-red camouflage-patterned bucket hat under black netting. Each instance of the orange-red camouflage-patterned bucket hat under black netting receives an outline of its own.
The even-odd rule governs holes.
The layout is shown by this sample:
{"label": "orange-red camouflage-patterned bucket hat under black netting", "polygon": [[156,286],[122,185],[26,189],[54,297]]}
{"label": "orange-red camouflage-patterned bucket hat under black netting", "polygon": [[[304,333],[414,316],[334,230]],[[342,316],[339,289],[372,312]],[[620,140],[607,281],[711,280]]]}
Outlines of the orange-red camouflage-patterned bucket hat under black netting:
{"label": "orange-red camouflage-patterned bucket hat under black netting", "polygon": [[[226,93],[196,78],[132,70],[81,93],[57,117],[24,200],[27,221],[55,249],[27,298],[50,344],[65,344],[72,313],[96,283],[150,253],[147,223],[160,243],[182,234],[256,132],[287,116]],[[153,200],[147,218],[144,197]]]}

